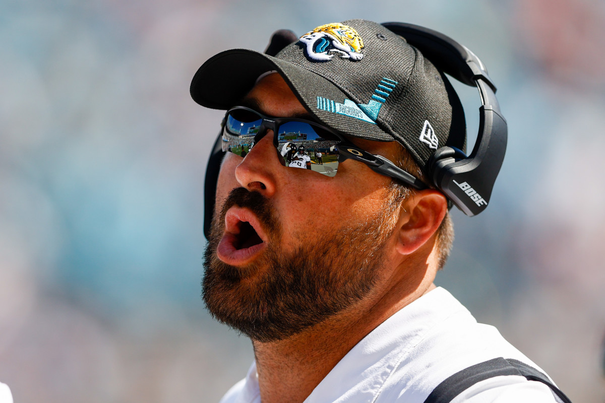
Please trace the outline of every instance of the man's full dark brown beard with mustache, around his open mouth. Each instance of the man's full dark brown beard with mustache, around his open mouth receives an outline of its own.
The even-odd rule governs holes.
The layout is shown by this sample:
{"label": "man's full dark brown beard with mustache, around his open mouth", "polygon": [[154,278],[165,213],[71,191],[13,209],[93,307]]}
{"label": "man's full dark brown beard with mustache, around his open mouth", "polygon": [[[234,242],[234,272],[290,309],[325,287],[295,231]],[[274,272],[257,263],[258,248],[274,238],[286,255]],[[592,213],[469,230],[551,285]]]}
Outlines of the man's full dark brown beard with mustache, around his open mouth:
{"label": "man's full dark brown beard with mustache, around his open mouth", "polygon": [[[269,239],[261,256],[245,266],[227,265],[217,257],[225,214],[234,205],[255,213]],[[385,206],[367,222],[332,234],[308,228],[316,238],[286,253],[270,202],[258,192],[232,190],[212,224],[204,253],[206,307],[218,321],[261,342],[284,340],[352,307],[378,280],[394,227],[393,208],[388,202]]]}

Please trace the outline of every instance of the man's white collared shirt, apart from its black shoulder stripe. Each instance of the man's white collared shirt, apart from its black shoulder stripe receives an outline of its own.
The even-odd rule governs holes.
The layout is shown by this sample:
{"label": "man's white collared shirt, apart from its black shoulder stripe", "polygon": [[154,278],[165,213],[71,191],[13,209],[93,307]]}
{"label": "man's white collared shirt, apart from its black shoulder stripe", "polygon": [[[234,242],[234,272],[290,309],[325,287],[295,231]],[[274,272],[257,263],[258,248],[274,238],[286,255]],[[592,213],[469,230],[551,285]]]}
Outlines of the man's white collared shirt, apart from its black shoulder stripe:
{"label": "man's white collared shirt, apart from its black shoulder stripe", "polygon": [[[436,288],[385,320],[351,349],[304,403],[423,403],[460,370],[492,358],[541,370],[493,326],[477,323],[456,298]],[[256,364],[221,403],[260,403]],[[548,386],[523,376],[478,382],[452,403],[554,403]]]}

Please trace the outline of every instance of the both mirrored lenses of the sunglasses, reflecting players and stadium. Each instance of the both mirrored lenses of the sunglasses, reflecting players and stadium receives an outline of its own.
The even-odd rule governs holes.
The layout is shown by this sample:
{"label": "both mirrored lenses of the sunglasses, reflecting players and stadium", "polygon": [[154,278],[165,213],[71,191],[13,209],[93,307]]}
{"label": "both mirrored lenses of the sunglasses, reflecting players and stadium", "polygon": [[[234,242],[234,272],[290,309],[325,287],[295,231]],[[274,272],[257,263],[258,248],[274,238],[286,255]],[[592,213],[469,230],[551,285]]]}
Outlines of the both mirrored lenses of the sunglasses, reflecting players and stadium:
{"label": "both mirrored lenses of the sunglasses, reflecting players and stadium", "polygon": [[[253,111],[229,112],[223,129],[223,151],[246,156],[262,123],[263,118]],[[340,140],[335,135],[316,124],[295,120],[281,123],[277,132],[276,151],[281,164],[336,175]]]}

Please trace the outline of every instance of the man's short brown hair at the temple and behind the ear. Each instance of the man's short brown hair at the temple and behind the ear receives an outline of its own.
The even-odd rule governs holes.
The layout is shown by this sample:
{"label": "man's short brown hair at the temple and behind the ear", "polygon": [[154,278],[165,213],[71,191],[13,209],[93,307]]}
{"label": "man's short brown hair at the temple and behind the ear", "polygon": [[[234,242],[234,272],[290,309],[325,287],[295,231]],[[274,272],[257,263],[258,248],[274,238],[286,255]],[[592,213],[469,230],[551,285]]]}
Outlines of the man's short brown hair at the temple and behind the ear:
{"label": "man's short brown hair at the temple and behind the ear", "polygon": [[[436,189],[431,181],[428,180],[427,175],[422,171],[420,166],[414,161],[414,158],[410,155],[408,150],[404,148],[399,143],[397,144],[397,150],[395,153],[395,159],[393,163],[420,179],[420,181],[424,182],[431,189]],[[394,193],[394,197],[391,198],[393,204],[401,205],[401,202],[405,199],[409,198],[415,192],[414,189],[401,184],[401,182],[397,182],[393,179],[391,181],[390,190]],[[394,207],[394,206],[393,206]],[[450,251],[452,248],[452,244],[454,243],[454,224],[452,222],[450,211],[446,211],[439,228],[437,228],[437,269],[442,269],[445,266],[445,262],[448,260],[450,256]]]}

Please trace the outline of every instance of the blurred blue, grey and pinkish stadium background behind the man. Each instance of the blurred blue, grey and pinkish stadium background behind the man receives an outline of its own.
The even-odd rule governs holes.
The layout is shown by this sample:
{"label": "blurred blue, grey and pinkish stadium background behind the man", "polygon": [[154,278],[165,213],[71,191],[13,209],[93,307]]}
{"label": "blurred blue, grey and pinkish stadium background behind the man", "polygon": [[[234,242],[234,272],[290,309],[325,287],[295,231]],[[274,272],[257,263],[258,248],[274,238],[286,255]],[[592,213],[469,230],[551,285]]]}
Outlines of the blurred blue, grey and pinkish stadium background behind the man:
{"label": "blurred blue, grey and pinkish stadium background behind the man", "polygon": [[[0,381],[16,402],[217,402],[252,362],[200,298],[218,51],[365,18],[441,31],[499,87],[491,206],[437,277],[574,402],[605,402],[602,0],[2,0]],[[457,85],[474,142],[476,89]]]}

